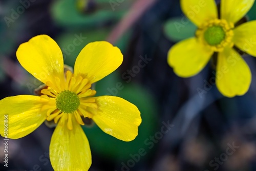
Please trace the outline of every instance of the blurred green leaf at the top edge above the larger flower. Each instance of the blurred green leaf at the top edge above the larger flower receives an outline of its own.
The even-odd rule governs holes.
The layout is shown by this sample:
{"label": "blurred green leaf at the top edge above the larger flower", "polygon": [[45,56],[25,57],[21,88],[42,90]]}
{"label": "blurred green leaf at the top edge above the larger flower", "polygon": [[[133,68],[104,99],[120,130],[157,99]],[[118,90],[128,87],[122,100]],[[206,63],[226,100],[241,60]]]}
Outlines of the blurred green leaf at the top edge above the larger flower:
{"label": "blurred green leaf at the top edge above the larger flower", "polygon": [[51,13],[58,25],[75,28],[94,28],[104,22],[117,21],[125,13],[125,10],[113,10],[109,2],[94,2],[96,8],[84,13],[81,11],[83,7],[80,7],[74,0],[58,0],[53,3]]}

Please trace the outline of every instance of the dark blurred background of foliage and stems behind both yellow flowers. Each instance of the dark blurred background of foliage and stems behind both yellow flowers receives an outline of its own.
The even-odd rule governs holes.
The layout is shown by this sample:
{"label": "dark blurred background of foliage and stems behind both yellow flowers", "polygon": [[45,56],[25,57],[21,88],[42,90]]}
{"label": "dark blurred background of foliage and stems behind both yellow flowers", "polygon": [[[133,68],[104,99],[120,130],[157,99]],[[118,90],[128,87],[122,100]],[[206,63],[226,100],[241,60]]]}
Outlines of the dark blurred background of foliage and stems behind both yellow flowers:
{"label": "dark blurred background of foliage and stems behind both yellow flowers", "polygon": [[[121,49],[121,67],[95,85],[96,95],[136,104],[142,124],[132,142],[106,135],[95,124],[83,126],[92,151],[90,170],[256,170],[256,59],[244,55],[252,82],[240,97],[223,97],[207,83],[214,78],[210,63],[194,77],[176,76],[167,52],[196,29],[189,23],[174,27],[184,17],[178,0],[1,0],[0,16],[0,99],[33,94],[40,86],[15,55],[33,36],[51,36],[72,67],[89,42],[108,40]],[[256,19],[255,3],[246,18]],[[73,43],[76,37],[81,37],[79,46]],[[24,138],[9,140],[8,168],[1,138],[0,170],[53,170],[53,131],[42,124]]]}

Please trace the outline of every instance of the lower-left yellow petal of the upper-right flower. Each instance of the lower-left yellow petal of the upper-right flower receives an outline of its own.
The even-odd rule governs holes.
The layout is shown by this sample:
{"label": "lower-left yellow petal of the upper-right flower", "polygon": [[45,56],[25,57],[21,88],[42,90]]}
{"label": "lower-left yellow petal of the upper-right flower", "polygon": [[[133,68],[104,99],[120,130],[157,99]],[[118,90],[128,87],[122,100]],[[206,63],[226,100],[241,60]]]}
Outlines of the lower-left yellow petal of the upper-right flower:
{"label": "lower-left yellow petal of the upper-right flower", "polygon": [[194,37],[182,40],[170,48],[167,62],[178,76],[191,77],[205,67],[213,53]]}

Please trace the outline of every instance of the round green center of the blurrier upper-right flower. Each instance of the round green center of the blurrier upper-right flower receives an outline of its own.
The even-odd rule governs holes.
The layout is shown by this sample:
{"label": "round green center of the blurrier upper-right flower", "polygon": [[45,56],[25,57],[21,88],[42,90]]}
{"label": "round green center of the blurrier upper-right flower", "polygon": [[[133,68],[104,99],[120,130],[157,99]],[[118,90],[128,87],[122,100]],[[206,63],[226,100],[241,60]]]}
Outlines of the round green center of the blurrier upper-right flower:
{"label": "round green center of the blurrier upper-right flower", "polygon": [[204,32],[204,39],[211,46],[221,44],[225,36],[226,33],[221,26],[211,26]]}

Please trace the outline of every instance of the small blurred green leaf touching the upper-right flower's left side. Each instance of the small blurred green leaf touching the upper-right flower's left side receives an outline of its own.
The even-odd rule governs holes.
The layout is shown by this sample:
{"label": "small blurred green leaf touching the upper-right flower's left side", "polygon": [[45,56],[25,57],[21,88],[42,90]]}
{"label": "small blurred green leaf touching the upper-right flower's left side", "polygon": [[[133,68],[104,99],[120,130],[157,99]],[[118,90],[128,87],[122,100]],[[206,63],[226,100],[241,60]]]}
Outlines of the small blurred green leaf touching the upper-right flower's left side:
{"label": "small blurred green leaf touching the upper-right flower's left side", "polygon": [[172,41],[180,41],[195,36],[197,27],[186,17],[175,17],[164,24],[164,33]]}

